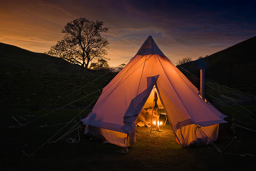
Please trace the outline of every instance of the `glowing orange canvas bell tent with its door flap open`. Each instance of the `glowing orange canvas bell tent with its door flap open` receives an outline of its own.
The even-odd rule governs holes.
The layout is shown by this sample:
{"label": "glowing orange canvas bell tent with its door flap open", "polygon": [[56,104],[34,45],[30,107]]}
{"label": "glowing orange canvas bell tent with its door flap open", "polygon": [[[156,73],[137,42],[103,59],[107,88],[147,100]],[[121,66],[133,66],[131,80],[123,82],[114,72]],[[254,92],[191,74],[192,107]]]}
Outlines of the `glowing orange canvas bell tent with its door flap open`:
{"label": "glowing orange canvas bell tent with its door flap open", "polygon": [[91,113],[81,120],[85,133],[101,135],[121,147],[131,146],[135,142],[134,121],[154,86],[180,145],[204,145],[218,138],[218,126],[227,116],[201,99],[198,89],[151,36],[104,87]]}

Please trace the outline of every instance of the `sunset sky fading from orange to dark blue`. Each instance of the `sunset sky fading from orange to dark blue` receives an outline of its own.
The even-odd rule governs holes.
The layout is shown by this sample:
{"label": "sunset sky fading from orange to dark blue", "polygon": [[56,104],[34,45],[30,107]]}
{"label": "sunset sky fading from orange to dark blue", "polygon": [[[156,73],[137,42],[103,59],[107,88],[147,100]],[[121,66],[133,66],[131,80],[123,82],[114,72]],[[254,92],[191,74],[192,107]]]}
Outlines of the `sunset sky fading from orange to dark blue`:
{"label": "sunset sky fading from orange to dark blue", "polygon": [[[207,2],[207,3],[206,3]],[[256,36],[256,3],[246,0],[0,0],[0,42],[47,52],[67,22],[102,20],[111,67],[151,35],[172,61],[211,55]]]}

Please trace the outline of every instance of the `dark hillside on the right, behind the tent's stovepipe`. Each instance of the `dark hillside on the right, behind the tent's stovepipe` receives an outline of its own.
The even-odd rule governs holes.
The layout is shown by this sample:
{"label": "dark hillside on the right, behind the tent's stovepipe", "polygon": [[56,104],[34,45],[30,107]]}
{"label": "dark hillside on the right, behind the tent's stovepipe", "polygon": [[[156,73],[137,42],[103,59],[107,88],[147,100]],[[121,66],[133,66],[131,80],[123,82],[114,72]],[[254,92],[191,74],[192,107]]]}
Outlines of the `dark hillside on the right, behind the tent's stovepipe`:
{"label": "dark hillside on the right, behind the tent's stovepipe", "polygon": [[256,95],[256,36],[205,58],[177,66],[192,83],[200,87],[200,69],[206,69],[206,79]]}

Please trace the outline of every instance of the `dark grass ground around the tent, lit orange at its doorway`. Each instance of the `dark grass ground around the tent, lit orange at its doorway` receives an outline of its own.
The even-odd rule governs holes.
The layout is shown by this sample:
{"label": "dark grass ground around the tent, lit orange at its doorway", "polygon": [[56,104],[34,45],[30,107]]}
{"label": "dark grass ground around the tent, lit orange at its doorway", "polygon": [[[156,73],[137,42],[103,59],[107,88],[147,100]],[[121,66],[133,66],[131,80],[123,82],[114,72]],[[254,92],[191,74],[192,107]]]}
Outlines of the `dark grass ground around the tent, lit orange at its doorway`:
{"label": "dark grass ground around the tent, lit orange at its doorway", "polygon": [[[1,124],[3,132],[1,139],[1,146],[3,147],[1,160],[3,161],[3,167],[1,166],[1,168],[5,171],[244,171],[249,170],[250,167],[254,168],[255,157],[220,154],[212,145],[197,148],[182,148],[175,141],[169,125],[161,127],[161,132],[153,131],[152,133],[149,133],[148,128],[137,127],[137,142],[133,147],[129,148],[128,154],[121,154],[119,152],[121,148],[116,145],[105,144],[96,139],[90,141],[88,137],[83,135],[82,131],[79,131],[81,137],[80,142],[68,143],[66,141],[67,138],[79,137],[78,132],[74,131],[57,143],[46,143],[35,153],[35,157],[26,157],[21,151],[31,154],[63,127],[63,125],[47,128],[41,128],[40,126],[45,124],[51,126],[70,121],[92,99],[98,96],[98,94],[69,105],[65,109],[50,113],[28,124],[26,127],[8,128],[16,124],[12,116],[22,123],[32,120],[35,116],[28,117],[27,115],[37,113],[41,108],[60,99],[58,96],[66,96],[99,77],[99,75],[50,74],[17,70],[1,70],[0,73],[2,78],[1,116],[2,121],[4,121]],[[99,79],[97,84],[88,85],[86,89],[79,90],[73,96],[70,96],[69,99],[58,102],[52,108],[38,113],[37,116],[41,116],[43,113],[48,113],[63,104],[67,104],[74,99],[79,99],[90,92],[98,90],[105,86],[113,76],[106,75]],[[227,92],[224,88],[223,91]],[[27,101],[27,99],[29,100]],[[238,125],[256,129],[256,117],[247,113],[241,107],[232,106],[247,116],[225,105],[215,105],[215,107],[227,116],[232,116],[252,126],[236,122]],[[256,113],[255,105],[247,104],[243,105],[243,107]],[[85,117],[90,109],[81,113],[81,117]],[[20,116],[27,120],[23,121],[20,119]],[[79,121],[79,118],[76,120]],[[219,138],[215,141],[215,144],[221,150],[234,137],[230,125],[230,123],[220,125]],[[58,139],[67,129],[64,128],[52,140]],[[238,140],[241,142],[236,140],[236,142],[231,143],[226,152],[255,155],[256,133],[239,127],[236,127],[236,133]]]}

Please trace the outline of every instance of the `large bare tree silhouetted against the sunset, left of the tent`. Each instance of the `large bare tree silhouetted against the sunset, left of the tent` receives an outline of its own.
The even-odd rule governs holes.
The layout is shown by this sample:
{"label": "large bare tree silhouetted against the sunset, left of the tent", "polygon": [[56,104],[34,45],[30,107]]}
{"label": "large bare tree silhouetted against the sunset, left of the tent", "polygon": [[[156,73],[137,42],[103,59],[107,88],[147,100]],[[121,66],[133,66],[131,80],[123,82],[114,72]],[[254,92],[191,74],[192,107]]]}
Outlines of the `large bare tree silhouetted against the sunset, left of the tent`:
{"label": "large bare tree silhouetted against the sunset, left of the tent", "polygon": [[77,18],[68,22],[64,29],[64,38],[56,45],[51,46],[48,55],[63,58],[70,63],[80,64],[81,71],[87,72],[89,62],[93,59],[108,59],[108,41],[102,38],[102,32],[108,32],[104,22],[96,20],[89,21],[86,18]]}

